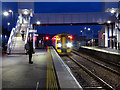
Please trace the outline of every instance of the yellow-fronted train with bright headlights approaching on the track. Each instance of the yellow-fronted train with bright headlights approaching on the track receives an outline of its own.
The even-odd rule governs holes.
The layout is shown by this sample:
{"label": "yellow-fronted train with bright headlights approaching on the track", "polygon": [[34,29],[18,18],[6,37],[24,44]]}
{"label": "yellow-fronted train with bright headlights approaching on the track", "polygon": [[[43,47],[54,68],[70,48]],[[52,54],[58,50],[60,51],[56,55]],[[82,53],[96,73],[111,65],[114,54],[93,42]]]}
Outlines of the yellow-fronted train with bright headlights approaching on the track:
{"label": "yellow-fronted train with bright headlights approaching on the track", "polygon": [[72,39],[72,35],[66,33],[58,34],[52,38],[52,45],[60,55],[67,55],[72,50]]}

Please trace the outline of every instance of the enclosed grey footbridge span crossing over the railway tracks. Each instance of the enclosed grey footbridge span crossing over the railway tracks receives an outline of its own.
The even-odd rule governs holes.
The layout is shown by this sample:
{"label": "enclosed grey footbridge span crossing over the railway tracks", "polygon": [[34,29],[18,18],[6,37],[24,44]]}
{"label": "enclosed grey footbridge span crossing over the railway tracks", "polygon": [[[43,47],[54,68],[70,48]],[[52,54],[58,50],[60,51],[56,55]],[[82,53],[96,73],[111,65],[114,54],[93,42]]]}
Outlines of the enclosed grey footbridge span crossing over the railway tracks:
{"label": "enclosed grey footbridge span crossing over the railway tracks", "polygon": [[110,13],[36,13],[32,18],[32,24],[36,25],[99,25],[107,24],[107,21],[115,23],[117,19]]}

